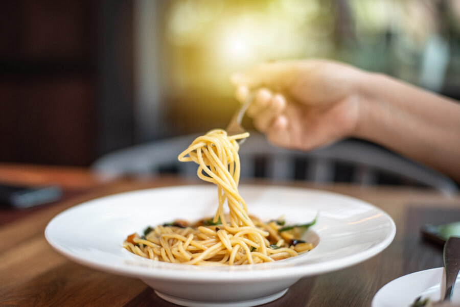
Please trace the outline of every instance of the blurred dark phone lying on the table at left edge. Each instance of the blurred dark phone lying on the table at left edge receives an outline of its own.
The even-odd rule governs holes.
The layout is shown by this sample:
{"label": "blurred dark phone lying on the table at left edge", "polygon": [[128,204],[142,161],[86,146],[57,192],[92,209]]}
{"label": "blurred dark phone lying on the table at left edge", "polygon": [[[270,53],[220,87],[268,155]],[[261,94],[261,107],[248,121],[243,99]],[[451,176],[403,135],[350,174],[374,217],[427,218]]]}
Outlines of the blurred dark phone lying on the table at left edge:
{"label": "blurred dark phone lying on the table at left edge", "polygon": [[62,189],[57,185],[31,187],[0,183],[0,207],[30,208],[61,197]]}

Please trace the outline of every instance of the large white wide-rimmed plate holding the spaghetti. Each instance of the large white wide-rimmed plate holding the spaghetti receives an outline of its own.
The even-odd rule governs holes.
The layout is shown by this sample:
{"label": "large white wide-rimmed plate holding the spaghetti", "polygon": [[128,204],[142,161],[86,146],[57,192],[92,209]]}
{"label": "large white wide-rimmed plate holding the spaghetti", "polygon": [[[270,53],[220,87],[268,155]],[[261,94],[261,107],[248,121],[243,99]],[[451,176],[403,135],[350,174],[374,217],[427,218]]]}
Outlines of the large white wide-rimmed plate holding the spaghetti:
{"label": "large white wide-rimmed plate holding the spaghetti", "polygon": [[[349,267],[386,248],[393,220],[379,208],[343,195],[282,186],[246,185],[249,214],[262,220],[317,223],[312,251],[282,261],[246,266],[199,267],[155,262],[122,247],[126,236],[174,219],[214,215],[217,188],[189,185],[135,191],[91,200],[57,215],[45,237],[60,253],[91,268],[139,277],[157,294],[186,306],[254,306],[281,297],[298,279]],[[318,240],[319,238],[319,240]]]}

